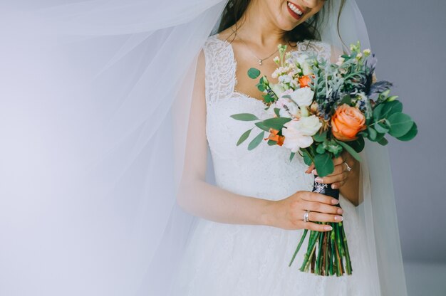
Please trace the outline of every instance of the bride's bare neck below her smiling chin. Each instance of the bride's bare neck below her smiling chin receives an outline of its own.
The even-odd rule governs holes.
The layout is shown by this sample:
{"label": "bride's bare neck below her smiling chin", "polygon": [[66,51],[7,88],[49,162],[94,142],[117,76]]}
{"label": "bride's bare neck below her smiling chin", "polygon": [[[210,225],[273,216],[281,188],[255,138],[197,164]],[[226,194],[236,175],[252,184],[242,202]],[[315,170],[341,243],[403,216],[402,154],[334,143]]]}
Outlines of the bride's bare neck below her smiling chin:
{"label": "bride's bare neck below her smiling chin", "polygon": [[237,35],[262,48],[273,48],[279,43],[286,43],[285,33],[276,27],[259,1],[251,1],[244,16],[237,21]]}

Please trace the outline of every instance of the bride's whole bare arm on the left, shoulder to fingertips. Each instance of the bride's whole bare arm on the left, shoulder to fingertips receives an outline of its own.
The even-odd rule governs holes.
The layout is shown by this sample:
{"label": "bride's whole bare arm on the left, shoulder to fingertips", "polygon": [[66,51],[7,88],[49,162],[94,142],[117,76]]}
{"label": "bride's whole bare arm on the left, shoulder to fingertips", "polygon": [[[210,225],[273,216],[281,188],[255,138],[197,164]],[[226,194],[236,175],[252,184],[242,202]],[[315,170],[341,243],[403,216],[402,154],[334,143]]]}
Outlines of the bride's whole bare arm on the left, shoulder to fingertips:
{"label": "bride's whole bare arm on the left, shoulder to fingertips", "polygon": [[[338,208],[331,198],[308,191],[281,201],[270,201],[234,194],[205,181],[207,166],[206,101],[204,95],[204,54],[199,54],[195,85],[192,92],[190,122],[187,130],[185,164],[177,203],[195,216],[221,223],[268,225],[280,228],[308,228],[324,231],[323,225],[301,223],[304,207],[313,211],[313,219],[335,221]],[[328,204],[327,204],[328,203]],[[311,218],[311,217],[310,217]],[[316,220],[313,220],[316,221]],[[325,230],[327,231],[327,230]]]}

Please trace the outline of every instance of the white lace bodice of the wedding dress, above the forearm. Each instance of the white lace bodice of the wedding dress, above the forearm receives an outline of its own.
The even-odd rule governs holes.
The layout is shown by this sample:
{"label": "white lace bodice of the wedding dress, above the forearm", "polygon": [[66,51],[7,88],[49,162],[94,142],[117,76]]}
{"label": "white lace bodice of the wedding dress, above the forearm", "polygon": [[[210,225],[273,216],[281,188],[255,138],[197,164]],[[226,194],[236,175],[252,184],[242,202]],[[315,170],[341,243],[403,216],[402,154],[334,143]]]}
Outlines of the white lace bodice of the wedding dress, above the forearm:
{"label": "white lace bodice of the wedding dress, above the forearm", "polygon": [[[217,185],[239,194],[265,199],[281,199],[297,190],[311,190],[313,176],[305,174],[306,165],[296,154],[289,161],[289,150],[262,142],[254,150],[247,146],[261,131],[254,122],[234,120],[230,115],[252,113],[260,119],[271,117],[264,103],[235,90],[237,61],[229,42],[210,36],[204,44],[206,64],[206,134],[214,163]],[[301,41],[291,54],[316,52],[330,58],[331,48],[321,41]],[[251,129],[249,138],[236,145],[240,135]],[[264,138],[268,133],[264,133]],[[274,185],[273,185],[274,184]]]}

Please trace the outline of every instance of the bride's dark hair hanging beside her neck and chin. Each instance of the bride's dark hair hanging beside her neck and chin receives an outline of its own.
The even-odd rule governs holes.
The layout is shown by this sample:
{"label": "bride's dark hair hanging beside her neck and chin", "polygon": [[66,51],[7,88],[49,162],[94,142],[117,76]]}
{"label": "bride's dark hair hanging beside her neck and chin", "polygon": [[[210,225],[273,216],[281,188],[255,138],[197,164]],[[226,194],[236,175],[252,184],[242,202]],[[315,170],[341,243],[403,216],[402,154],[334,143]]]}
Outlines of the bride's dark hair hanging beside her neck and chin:
{"label": "bride's dark hair hanging beside her neck and chin", "polygon": [[[330,4],[331,1],[328,1]],[[229,0],[226,7],[224,8],[222,14],[222,20],[219,23],[219,27],[217,33],[226,30],[230,26],[237,23],[237,21],[243,16],[244,12],[247,10],[249,3],[251,0]],[[343,7],[345,0],[341,0],[341,9]],[[321,35],[318,31],[318,26],[320,26],[320,21],[323,19],[326,13],[328,13],[330,9],[329,5],[324,5],[321,11],[317,14],[309,18],[304,23],[301,23],[299,26],[296,26],[291,31],[286,33],[286,39],[288,41],[304,41],[308,40],[321,40]],[[341,15],[341,9],[338,12],[338,26],[339,26],[339,16]],[[237,33],[237,28],[236,28]]]}

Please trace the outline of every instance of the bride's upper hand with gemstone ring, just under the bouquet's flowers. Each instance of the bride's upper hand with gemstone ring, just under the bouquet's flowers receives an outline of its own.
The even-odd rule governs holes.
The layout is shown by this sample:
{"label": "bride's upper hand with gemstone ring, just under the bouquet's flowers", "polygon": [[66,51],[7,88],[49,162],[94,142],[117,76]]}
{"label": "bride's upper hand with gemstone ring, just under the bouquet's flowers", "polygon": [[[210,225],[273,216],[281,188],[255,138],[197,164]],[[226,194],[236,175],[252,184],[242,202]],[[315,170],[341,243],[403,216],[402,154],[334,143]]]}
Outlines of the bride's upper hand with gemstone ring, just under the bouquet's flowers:
{"label": "bride's upper hand with gemstone ring, just under the bouquet's flowers", "polygon": [[[315,181],[322,184],[331,184],[332,189],[340,189],[346,184],[348,177],[353,174],[353,167],[356,165],[356,159],[344,150],[339,157],[333,159],[333,164],[333,173],[324,177],[317,177]],[[349,170],[348,167],[351,169]],[[317,171],[314,169],[314,164],[308,166],[308,169],[305,172],[306,174],[313,173],[314,175],[317,175]]]}

